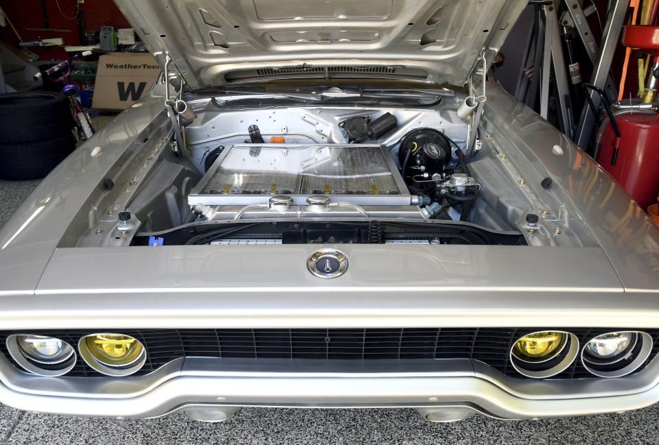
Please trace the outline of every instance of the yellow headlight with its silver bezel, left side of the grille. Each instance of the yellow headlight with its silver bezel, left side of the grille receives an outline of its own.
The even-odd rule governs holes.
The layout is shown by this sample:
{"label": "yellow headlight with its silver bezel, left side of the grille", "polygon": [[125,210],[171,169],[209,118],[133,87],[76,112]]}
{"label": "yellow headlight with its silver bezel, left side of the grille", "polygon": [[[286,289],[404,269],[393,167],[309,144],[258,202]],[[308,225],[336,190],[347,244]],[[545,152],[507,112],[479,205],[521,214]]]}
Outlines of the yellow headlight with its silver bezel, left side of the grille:
{"label": "yellow headlight with its silver bezel, left side of the grille", "polygon": [[87,335],[80,339],[78,348],[88,365],[110,376],[127,376],[137,372],[146,361],[146,350],[130,335]]}

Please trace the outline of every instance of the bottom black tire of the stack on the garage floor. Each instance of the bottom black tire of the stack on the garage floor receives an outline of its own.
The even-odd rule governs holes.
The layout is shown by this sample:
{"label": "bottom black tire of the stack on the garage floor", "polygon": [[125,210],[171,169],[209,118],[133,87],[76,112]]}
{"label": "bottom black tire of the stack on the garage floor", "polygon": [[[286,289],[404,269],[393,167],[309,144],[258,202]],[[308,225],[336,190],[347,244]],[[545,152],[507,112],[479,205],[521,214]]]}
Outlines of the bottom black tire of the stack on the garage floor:
{"label": "bottom black tire of the stack on the garage floor", "polygon": [[40,142],[1,143],[0,179],[25,180],[46,176],[76,148],[69,130],[66,136]]}

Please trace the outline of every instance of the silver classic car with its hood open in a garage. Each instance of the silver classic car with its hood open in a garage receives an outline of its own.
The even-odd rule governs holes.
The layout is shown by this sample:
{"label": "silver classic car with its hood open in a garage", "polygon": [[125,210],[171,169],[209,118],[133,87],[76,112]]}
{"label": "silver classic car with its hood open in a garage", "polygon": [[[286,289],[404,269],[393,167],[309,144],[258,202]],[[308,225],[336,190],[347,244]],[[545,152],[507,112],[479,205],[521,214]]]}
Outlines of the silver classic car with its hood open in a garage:
{"label": "silver classic car with its hood open in a garage", "polygon": [[0,402],[659,400],[659,230],[486,73],[527,0],[117,0],[163,69],[0,231]]}

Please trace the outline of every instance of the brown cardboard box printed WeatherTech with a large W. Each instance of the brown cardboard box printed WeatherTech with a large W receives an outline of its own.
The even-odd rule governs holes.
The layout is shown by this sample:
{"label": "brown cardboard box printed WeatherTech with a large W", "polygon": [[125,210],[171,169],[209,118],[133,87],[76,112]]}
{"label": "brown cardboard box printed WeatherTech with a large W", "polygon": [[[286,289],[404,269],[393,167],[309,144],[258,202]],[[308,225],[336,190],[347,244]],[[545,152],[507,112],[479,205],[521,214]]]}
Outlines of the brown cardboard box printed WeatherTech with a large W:
{"label": "brown cardboard box printed WeatherTech with a large W", "polygon": [[93,108],[124,110],[145,95],[160,75],[149,53],[108,53],[98,59]]}

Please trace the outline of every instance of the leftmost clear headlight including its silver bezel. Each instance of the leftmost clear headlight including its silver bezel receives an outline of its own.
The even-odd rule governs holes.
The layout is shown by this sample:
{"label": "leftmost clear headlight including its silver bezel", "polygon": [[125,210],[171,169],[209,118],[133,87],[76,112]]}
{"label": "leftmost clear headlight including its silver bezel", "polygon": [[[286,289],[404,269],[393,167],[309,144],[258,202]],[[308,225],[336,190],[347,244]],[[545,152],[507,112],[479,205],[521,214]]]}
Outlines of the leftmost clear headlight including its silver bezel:
{"label": "leftmost clear headlight including its silver bezel", "polygon": [[21,368],[41,376],[61,376],[76,365],[76,351],[66,341],[54,337],[10,335],[7,349]]}

